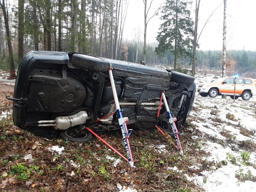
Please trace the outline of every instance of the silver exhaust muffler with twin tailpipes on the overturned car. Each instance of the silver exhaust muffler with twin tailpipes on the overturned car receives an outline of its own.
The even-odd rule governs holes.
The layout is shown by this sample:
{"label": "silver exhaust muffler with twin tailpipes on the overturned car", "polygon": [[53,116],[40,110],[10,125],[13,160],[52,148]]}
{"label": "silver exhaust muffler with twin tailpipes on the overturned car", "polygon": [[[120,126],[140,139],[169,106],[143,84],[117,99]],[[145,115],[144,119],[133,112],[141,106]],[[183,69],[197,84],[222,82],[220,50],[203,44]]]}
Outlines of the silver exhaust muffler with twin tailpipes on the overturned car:
{"label": "silver exhaust muffler with twin tailpipes on the overturned car", "polygon": [[39,127],[54,127],[57,130],[66,130],[70,127],[74,127],[76,125],[83,125],[86,123],[87,120],[87,113],[86,111],[79,111],[75,115],[69,116],[60,116],[55,118],[55,120],[44,120],[44,121],[37,121]]}

